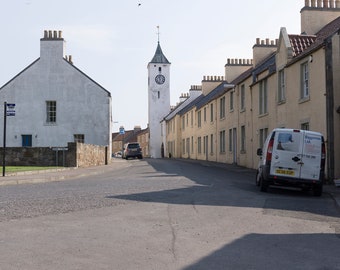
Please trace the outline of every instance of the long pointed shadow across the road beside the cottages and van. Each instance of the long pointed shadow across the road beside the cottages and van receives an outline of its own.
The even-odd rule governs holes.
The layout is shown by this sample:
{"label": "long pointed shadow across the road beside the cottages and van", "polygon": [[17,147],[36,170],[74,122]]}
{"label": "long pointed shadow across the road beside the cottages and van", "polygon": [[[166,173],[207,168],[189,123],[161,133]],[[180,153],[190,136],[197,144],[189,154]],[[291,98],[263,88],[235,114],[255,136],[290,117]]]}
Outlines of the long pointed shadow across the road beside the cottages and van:
{"label": "long pointed shadow across the road beside the cottages and van", "polygon": [[152,174],[146,176],[148,179],[162,177],[160,181],[171,181],[176,177],[184,177],[194,184],[107,198],[165,204],[254,207],[263,208],[271,214],[276,211],[274,214],[277,215],[282,214],[280,210],[286,210],[294,217],[299,217],[301,212],[310,213],[313,220],[319,220],[318,215],[340,217],[335,207],[329,207],[331,198],[325,193],[322,197],[313,197],[310,192],[278,188],[271,188],[269,193],[261,193],[255,186],[255,171],[251,169],[174,159],[146,159],[146,162],[154,169]]}

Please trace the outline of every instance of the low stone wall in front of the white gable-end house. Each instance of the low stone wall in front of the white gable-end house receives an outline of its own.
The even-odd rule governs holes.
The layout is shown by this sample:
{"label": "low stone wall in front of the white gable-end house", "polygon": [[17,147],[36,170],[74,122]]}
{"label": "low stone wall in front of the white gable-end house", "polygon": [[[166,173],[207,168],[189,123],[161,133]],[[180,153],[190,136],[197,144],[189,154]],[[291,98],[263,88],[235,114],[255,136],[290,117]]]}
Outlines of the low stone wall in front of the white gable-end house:
{"label": "low stone wall in front of the white gable-end house", "polygon": [[[0,163],[3,148],[0,148]],[[6,166],[89,167],[106,165],[108,147],[68,143],[67,147],[6,147]]]}

